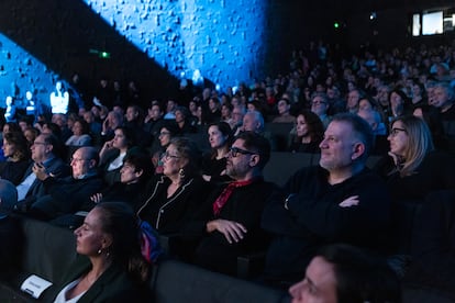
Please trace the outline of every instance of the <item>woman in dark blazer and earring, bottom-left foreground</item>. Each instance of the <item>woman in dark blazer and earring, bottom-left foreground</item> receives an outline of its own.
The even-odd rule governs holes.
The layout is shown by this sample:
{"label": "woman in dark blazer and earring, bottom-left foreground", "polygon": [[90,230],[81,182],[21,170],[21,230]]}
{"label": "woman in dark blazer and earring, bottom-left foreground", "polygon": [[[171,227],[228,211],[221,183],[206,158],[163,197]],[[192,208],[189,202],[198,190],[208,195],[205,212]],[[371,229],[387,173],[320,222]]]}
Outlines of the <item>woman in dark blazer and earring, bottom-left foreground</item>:
{"label": "woman in dark blazer and earring, bottom-left foreground", "polygon": [[148,263],[134,212],[124,203],[95,206],[75,231],[80,258],[54,302],[146,302]]}

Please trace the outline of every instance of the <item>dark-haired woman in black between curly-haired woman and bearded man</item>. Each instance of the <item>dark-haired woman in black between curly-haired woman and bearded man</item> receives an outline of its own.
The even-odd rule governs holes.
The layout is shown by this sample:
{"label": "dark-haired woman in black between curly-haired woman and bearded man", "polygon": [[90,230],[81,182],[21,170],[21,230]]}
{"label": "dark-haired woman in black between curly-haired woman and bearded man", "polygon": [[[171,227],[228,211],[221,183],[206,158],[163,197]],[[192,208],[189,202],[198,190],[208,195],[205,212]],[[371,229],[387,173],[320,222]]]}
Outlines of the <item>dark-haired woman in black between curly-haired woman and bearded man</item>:
{"label": "dark-haired woman in black between curly-haired woman and bearded man", "polygon": [[225,173],[226,157],[232,141],[232,130],[226,122],[210,124],[209,143],[212,150],[203,156],[202,178],[213,183],[229,181]]}

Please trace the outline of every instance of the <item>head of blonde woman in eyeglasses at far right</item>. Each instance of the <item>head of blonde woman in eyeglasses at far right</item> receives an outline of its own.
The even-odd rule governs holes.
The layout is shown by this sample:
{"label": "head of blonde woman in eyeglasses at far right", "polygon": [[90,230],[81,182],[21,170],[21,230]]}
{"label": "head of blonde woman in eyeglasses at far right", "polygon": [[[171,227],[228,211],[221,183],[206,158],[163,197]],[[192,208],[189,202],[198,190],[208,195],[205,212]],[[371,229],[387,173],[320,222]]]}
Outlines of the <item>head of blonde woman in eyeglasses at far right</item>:
{"label": "head of blonde woman in eyeglasses at far right", "polygon": [[430,128],[423,119],[407,115],[391,123],[390,152],[403,159],[401,172],[412,173],[425,155],[434,149]]}

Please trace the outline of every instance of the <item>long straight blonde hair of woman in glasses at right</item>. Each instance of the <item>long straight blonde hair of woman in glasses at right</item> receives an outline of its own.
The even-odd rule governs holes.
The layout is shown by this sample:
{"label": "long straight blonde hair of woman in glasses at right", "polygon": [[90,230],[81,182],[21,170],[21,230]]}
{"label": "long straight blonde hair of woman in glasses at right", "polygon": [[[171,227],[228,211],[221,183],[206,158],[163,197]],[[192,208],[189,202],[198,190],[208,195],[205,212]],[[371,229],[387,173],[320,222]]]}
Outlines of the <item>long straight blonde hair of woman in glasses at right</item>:
{"label": "long straight blonde hair of woman in glasses at right", "polygon": [[433,139],[426,122],[423,119],[407,115],[393,120],[392,125],[400,121],[408,134],[408,146],[404,150],[404,162],[399,169],[400,176],[406,177],[415,172],[425,156],[434,150]]}

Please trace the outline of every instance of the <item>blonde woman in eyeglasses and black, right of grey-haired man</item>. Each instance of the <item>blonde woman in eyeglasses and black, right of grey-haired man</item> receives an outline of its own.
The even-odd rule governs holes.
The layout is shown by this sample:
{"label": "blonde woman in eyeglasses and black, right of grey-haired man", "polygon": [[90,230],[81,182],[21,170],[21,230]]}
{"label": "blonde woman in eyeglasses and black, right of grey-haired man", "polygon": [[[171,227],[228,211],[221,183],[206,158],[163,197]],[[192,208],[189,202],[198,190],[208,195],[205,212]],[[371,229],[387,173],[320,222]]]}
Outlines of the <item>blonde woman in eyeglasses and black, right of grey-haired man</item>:
{"label": "blonde woman in eyeglasses and black, right of grey-haired man", "polygon": [[423,119],[406,115],[390,125],[390,150],[375,169],[386,179],[393,200],[391,211],[400,252],[409,252],[415,207],[432,191],[455,189],[455,162],[434,149]]}

